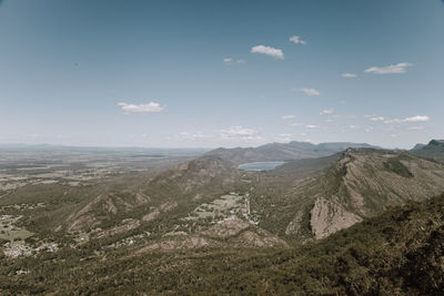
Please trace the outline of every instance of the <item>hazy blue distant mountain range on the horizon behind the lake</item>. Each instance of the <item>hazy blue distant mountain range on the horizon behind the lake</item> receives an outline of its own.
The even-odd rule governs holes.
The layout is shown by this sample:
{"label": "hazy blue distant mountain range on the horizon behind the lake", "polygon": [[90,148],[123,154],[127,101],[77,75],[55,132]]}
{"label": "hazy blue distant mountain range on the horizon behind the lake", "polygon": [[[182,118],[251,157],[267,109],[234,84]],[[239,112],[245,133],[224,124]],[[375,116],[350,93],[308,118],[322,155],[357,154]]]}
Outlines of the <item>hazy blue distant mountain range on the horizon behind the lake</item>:
{"label": "hazy blue distant mountain range on the horizon behind the lake", "polygon": [[349,147],[381,149],[366,143],[332,142],[316,145],[309,142],[293,141],[290,143],[270,143],[259,147],[220,147],[208,152],[206,155],[219,156],[222,160],[241,164],[246,162],[292,161],[322,157],[344,151]]}

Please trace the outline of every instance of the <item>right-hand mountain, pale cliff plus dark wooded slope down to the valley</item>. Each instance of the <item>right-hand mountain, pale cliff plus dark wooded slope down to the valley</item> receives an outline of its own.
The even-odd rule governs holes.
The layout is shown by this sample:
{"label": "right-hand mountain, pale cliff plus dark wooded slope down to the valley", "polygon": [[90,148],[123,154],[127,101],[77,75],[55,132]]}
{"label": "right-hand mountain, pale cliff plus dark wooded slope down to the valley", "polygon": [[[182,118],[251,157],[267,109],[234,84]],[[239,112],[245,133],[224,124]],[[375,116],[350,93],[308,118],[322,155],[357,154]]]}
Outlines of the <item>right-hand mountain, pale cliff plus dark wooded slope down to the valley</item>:
{"label": "right-hand mountain, pale cliff plus dark wooded slope down to the valley", "polygon": [[251,192],[252,212],[259,226],[302,241],[444,191],[444,165],[406,152],[350,149],[323,171],[291,175],[285,165],[263,174]]}

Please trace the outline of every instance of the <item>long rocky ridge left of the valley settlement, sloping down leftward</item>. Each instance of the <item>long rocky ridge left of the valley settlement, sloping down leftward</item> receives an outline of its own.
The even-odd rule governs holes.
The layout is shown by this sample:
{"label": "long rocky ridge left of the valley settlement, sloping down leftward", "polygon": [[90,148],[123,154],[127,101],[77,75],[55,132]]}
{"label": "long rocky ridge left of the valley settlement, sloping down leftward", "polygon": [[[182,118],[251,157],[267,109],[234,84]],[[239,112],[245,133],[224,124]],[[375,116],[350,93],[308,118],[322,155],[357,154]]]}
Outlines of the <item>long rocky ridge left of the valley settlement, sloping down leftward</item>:
{"label": "long rocky ridge left of the valley settlement, sloping down leftward", "polygon": [[104,187],[100,195],[84,200],[57,229],[89,232],[128,218],[138,220],[139,226],[171,212],[186,215],[193,206],[232,190],[239,177],[232,163],[202,156],[133,182],[131,188]]}

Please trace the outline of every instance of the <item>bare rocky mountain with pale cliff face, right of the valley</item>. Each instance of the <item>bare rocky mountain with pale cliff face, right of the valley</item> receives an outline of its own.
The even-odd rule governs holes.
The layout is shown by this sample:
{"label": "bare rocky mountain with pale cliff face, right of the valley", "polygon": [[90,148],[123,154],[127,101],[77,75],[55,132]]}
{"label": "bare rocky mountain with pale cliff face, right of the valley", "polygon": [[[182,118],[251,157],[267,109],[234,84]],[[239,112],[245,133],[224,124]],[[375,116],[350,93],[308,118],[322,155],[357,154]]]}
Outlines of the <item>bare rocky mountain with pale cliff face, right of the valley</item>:
{"label": "bare rocky mountain with pale cliff face, right of the valley", "polygon": [[444,191],[443,165],[407,153],[350,150],[332,171],[341,172],[335,174],[339,177],[332,178],[329,172],[321,176],[327,178],[324,184],[330,194],[314,197],[311,210],[315,238],[382,213],[387,206],[422,201]]}

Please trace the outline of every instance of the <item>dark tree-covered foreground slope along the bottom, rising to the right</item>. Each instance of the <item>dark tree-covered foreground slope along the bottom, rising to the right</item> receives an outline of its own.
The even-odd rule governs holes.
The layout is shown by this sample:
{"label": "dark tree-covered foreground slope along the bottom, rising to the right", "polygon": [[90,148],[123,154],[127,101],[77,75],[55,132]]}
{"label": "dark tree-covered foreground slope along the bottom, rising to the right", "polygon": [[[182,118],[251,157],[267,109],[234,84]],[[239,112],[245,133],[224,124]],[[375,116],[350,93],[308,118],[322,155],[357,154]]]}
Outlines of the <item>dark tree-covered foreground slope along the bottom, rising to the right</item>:
{"label": "dark tree-covered foreground slope along the bottom, rising to the right", "polygon": [[[292,249],[91,254],[1,261],[3,295],[442,295],[444,194]],[[441,293],[441,294],[440,294]]]}

